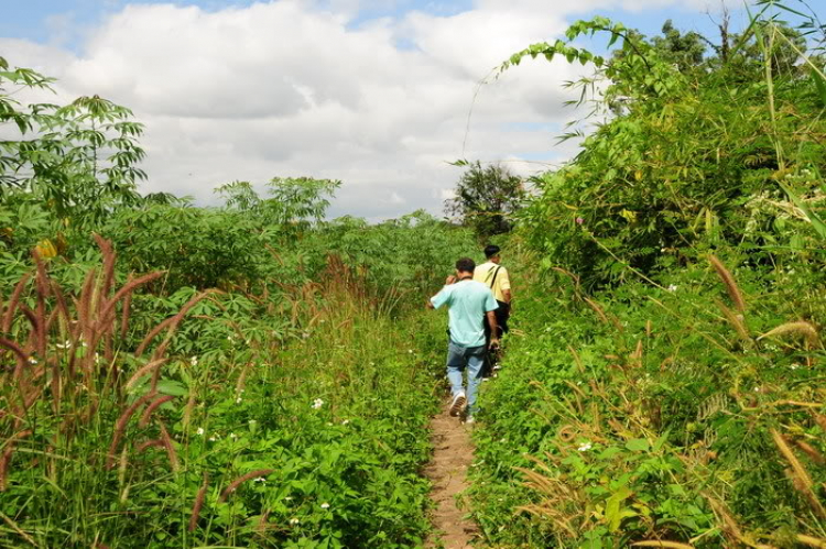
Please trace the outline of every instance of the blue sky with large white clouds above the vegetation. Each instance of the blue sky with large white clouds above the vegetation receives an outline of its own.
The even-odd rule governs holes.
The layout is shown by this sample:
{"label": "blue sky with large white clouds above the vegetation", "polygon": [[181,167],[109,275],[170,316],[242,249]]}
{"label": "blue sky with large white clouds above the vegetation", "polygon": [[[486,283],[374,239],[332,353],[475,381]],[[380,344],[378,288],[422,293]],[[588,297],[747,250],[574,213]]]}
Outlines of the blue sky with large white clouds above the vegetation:
{"label": "blue sky with large white clouds above the vegetation", "polygon": [[[330,216],[441,215],[466,158],[529,177],[564,163],[591,67],[512,53],[606,15],[715,36],[720,0],[6,0],[0,56],[99,95],[145,125],[142,193],[215,205],[272,177],[343,182]],[[735,25],[742,14],[735,11]],[[606,40],[580,45],[601,52]],[[486,84],[479,86],[483,80]],[[478,92],[477,92],[478,91]]]}

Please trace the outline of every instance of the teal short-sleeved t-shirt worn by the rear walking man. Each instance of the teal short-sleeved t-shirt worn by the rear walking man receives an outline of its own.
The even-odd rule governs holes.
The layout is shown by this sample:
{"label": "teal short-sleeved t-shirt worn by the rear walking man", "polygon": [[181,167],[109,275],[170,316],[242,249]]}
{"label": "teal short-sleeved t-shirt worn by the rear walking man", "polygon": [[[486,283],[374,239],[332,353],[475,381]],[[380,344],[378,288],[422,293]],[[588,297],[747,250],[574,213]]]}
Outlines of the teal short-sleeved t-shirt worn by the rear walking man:
{"label": "teal short-sleeved t-shirt worn by the rear walking man", "polygon": [[450,339],[463,347],[485,344],[485,314],[499,307],[490,288],[474,281],[445,286],[431,303],[437,309],[447,305]]}

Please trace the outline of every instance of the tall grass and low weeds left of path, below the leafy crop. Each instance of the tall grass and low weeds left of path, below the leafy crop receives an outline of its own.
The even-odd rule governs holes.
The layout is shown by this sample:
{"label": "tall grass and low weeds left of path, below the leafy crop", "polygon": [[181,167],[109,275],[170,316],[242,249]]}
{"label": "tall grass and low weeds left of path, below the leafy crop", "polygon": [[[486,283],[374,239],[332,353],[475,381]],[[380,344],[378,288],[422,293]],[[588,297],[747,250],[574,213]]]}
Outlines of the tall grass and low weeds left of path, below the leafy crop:
{"label": "tall grass and low weeds left of path, below the leafy crop", "polygon": [[[3,543],[422,542],[441,320],[332,255],[317,281],[248,298],[289,319],[292,341],[205,315],[233,306],[209,292],[137,333],[129,309],[148,296],[133,294],[162,273],[117,287],[98,244],[77,294],[35,257],[3,300]],[[172,353],[187,319],[228,322],[220,359]]]}

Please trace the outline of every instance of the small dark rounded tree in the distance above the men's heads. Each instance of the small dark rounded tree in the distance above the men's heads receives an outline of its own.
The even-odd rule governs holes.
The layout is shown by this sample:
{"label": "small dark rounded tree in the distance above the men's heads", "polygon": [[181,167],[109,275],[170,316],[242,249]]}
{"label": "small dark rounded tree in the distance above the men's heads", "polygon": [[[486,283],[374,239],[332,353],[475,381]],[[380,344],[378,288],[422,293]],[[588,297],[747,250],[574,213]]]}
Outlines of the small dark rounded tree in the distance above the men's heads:
{"label": "small dark rounded tree in the distance above the men's heads", "polygon": [[511,230],[511,215],[525,198],[522,179],[492,164],[482,168],[470,164],[456,187],[456,196],[445,201],[445,212],[457,217],[481,237]]}

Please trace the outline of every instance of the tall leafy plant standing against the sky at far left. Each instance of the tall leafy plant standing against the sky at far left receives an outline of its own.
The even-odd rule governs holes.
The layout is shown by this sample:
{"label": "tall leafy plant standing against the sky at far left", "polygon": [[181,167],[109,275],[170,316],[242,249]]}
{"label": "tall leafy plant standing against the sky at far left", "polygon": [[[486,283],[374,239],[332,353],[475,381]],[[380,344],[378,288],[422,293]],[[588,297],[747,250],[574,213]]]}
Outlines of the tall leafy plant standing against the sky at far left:
{"label": "tall leafy plant standing against the sky at far left", "polygon": [[28,68],[10,70],[0,57],[0,130],[11,138],[0,140],[0,197],[23,191],[66,224],[97,223],[139,200],[143,127],[129,109],[98,96],[65,107],[12,98],[22,89],[51,90],[53,81]]}

